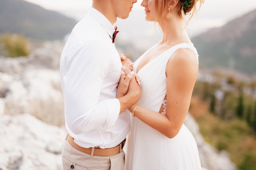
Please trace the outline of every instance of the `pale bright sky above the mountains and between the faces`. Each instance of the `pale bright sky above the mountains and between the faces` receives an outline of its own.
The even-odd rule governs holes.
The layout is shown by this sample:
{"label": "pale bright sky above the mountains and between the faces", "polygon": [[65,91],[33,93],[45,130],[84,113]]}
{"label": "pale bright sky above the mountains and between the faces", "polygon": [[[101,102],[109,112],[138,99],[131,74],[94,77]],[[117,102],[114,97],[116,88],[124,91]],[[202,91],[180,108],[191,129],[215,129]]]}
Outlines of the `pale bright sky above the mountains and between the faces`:
{"label": "pale bright sky above the mountains and between the faces", "polygon": [[[54,11],[70,11],[70,13],[77,18],[83,18],[84,13],[88,7],[91,6],[92,0],[25,0],[41,7]],[[133,5],[133,10],[142,10],[142,0],[137,0]],[[219,27],[226,22],[238,18],[249,11],[256,9],[256,0],[205,0],[202,8],[195,19],[196,27],[203,27],[209,29],[212,27]],[[79,13],[80,11],[80,13]],[[74,14],[76,13],[76,15]],[[190,23],[191,24],[191,23]],[[192,24],[193,26],[193,21]]]}

